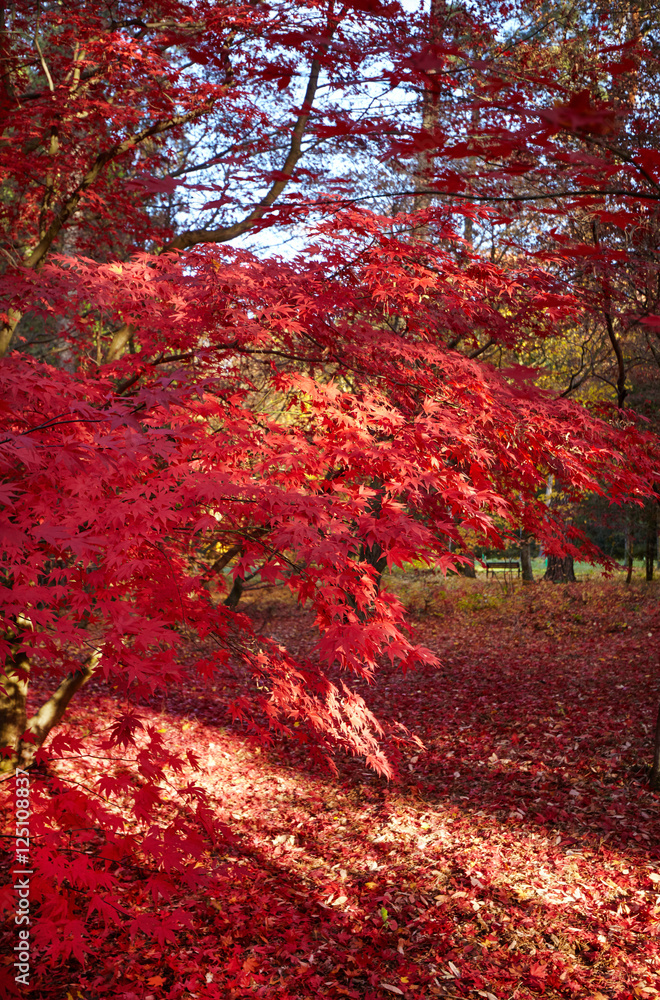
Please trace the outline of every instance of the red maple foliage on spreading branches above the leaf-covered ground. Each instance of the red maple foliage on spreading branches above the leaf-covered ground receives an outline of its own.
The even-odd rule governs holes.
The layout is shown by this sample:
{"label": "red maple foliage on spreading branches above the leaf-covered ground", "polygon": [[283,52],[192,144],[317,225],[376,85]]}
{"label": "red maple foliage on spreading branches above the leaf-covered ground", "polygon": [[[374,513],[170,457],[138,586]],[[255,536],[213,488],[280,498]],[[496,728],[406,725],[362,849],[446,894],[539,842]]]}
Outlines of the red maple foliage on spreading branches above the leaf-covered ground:
{"label": "red maple foliage on spreading branches above the leaf-covered ground", "polygon": [[[567,507],[654,496],[654,424],[624,400],[626,345],[657,350],[656,154],[619,85],[655,53],[600,25],[571,83],[483,6],[4,12],[0,743],[36,776],[53,966],[112,928],[172,940],[234,843],[154,699],[234,676],[217,698],[254,747],[394,777],[419,738],[365,683],[440,661],[383,574],[522,535],[602,559]],[[537,384],[529,345],[590,323],[610,396]],[[244,613],[250,580],[313,641]],[[103,726],[69,728],[86,698]],[[236,963],[233,988],[262,982]]]}

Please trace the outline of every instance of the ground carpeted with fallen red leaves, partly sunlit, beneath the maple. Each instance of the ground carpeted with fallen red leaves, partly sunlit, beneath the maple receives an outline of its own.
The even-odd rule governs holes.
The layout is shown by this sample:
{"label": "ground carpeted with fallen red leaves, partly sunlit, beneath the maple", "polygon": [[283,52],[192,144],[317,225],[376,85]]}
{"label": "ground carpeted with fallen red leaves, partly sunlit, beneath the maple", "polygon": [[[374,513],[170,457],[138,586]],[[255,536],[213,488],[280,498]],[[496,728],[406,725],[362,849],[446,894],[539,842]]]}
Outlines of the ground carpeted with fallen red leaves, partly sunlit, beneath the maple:
{"label": "ground carpeted with fallen red leaves, partly sunlit, beneath the maple", "polygon": [[[144,711],[198,755],[194,780],[226,825],[206,889],[178,900],[189,926],[170,940],[106,934],[34,996],[660,996],[658,586],[395,584],[441,663],[359,688],[424,744],[403,749],[399,780],[260,748],[220,706],[237,693],[229,673],[172,690]],[[245,611],[290,649],[313,641],[280,591]],[[112,711],[99,687],[71,723]],[[84,783],[89,767],[67,773]],[[138,905],[139,886],[126,893]]]}

